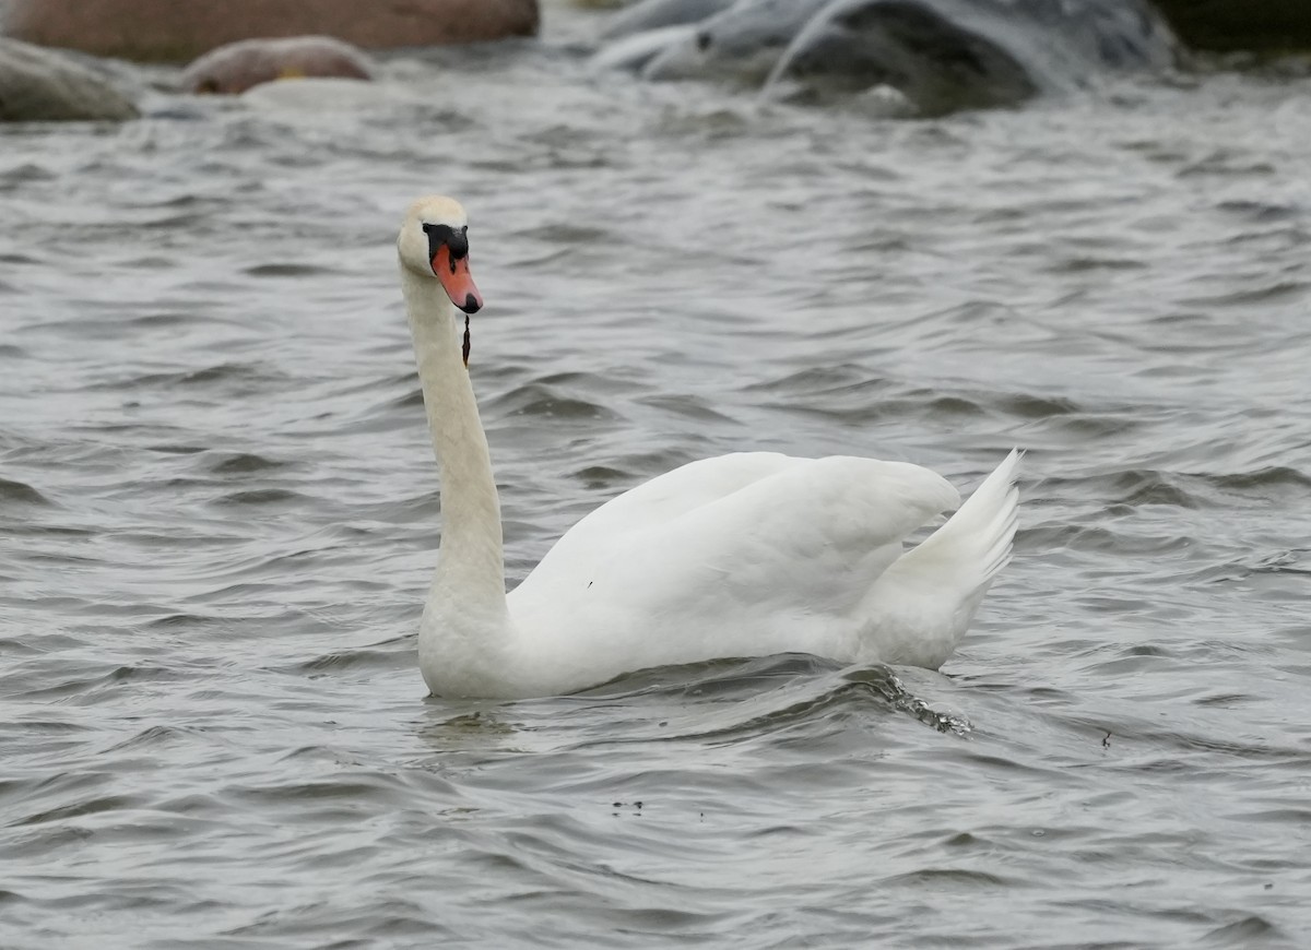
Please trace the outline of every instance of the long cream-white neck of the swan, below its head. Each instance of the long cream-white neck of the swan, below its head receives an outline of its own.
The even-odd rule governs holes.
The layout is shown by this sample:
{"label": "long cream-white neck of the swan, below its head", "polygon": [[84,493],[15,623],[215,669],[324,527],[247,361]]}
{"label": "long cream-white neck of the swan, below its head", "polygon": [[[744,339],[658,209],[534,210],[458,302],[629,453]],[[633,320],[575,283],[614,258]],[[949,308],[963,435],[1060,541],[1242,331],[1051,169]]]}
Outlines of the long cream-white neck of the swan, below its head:
{"label": "long cream-white neck of the swan, below its head", "polygon": [[401,266],[401,286],[442,477],[442,549],[430,605],[450,601],[471,626],[492,625],[506,615],[501,502],[461,355],[461,324],[437,280]]}

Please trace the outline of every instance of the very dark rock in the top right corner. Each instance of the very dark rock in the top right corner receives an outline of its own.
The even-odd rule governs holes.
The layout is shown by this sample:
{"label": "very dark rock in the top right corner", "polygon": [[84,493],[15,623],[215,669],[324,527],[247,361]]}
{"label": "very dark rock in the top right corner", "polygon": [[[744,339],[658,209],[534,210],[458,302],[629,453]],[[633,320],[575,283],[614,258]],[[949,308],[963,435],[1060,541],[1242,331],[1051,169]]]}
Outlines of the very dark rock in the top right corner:
{"label": "very dark rock in the top right corner", "polygon": [[1186,46],[1235,52],[1311,50],[1306,0],[1155,0]]}

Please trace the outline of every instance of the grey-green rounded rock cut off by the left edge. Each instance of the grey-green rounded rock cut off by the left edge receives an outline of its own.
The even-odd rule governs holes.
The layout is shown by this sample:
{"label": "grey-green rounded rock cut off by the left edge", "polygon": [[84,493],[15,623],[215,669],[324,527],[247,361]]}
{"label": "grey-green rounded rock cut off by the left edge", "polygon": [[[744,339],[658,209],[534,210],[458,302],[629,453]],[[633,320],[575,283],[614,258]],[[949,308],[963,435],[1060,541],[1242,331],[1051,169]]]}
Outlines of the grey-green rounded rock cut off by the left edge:
{"label": "grey-green rounded rock cut off by the left edge", "polygon": [[0,122],[135,117],[127,97],[72,56],[0,38]]}

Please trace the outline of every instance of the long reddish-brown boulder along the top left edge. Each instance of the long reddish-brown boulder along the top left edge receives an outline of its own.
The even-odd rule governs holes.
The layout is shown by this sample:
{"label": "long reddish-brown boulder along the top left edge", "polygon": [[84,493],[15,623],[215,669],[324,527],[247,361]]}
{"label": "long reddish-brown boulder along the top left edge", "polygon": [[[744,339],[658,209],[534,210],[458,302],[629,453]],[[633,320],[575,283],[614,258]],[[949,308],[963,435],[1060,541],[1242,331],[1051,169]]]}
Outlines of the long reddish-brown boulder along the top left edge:
{"label": "long reddish-brown boulder along the top left edge", "polygon": [[101,56],[186,62],[253,38],[326,34],[385,48],[538,30],[538,0],[8,0],[5,33]]}

